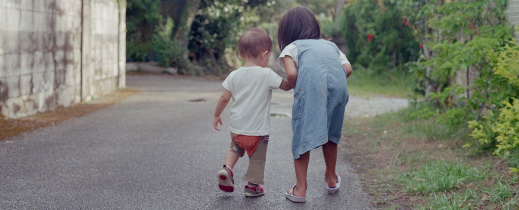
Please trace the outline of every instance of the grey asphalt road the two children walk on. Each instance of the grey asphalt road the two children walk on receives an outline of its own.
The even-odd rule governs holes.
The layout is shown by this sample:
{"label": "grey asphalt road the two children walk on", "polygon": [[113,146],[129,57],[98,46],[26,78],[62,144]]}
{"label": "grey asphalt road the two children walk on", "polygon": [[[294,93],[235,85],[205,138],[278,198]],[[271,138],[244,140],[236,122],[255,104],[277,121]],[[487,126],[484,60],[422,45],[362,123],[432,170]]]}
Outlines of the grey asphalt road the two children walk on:
{"label": "grey asphalt road the two children walk on", "polygon": [[[127,85],[140,94],[0,142],[0,209],[372,209],[358,176],[341,158],[344,150],[337,163],[343,177],[338,194],[324,189],[324,161],[316,149],[310,157],[307,202],[284,198],[295,183],[286,117],[292,91],[273,94],[271,110],[279,117],[272,119],[277,132],[267,152],[266,195],[245,198],[241,178],[247,158],[235,166],[237,190],[217,188],[216,173],[230,140],[229,107],[222,131],[212,128],[221,81],[127,76]],[[364,105],[378,103],[367,101]]]}

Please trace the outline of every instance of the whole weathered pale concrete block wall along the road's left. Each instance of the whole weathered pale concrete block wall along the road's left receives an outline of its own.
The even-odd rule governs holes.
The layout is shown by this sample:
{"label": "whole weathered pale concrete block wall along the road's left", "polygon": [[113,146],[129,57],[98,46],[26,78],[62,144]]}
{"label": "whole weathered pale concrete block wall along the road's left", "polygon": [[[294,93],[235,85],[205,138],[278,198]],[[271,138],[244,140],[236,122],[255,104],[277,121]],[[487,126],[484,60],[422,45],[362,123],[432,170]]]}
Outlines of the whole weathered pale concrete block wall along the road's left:
{"label": "whole weathered pale concrete block wall along the road's left", "polygon": [[0,0],[0,113],[28,116],[124,88],[125,8],[117,0]]}

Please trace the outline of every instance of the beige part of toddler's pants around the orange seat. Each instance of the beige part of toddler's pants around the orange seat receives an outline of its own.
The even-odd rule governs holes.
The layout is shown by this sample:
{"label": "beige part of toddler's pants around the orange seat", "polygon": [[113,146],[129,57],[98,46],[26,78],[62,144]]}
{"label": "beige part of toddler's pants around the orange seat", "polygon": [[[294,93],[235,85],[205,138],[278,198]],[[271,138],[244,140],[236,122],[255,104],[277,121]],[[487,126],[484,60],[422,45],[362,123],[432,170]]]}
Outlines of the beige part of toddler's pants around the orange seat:
{"label": "beige part of toddler's pants around the orange seat", "polygon": [[[240,157],[243,157],[247,148],[241,148],[233,138],[234,134],[230,134],[231,144],[230,148],[233,149]],[[256,150],[252,155],[249,156],[249,167],[243,180],[255,183],[258,185],[265,184],[265,161],[267,160],[267,146],[268,146],[268,135],[261,136],[260,143],[256,147]]]}

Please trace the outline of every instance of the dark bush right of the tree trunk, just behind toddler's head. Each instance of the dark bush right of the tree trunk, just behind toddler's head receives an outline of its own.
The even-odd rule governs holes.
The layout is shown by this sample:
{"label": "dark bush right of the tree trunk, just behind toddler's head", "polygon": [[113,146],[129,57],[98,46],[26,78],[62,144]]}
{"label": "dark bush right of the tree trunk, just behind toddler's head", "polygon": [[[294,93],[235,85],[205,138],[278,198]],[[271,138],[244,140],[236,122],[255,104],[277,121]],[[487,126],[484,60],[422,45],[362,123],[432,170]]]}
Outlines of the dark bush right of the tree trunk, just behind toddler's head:
{"label": "dark bush right of the tree trunk, just behind toddler's head", "polygon": [[236,44],[248,24],[259,21],[253,10],[264,2],[202,0],[190,29],[190,58],[206,67],[208,74],[228,73],[224,56],[226,49]]}

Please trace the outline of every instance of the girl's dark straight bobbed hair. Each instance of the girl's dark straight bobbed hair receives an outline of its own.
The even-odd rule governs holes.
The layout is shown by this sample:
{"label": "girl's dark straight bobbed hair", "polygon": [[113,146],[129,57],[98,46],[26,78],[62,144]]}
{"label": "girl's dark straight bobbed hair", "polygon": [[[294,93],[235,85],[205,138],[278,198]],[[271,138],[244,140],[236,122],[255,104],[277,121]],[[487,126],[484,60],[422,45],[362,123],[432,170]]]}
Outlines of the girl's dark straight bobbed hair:
{"label": "girl's dark straight bobbed hair", "polygon": [[294,7],[288,10],[279,21],[278,45],[283,50],[295,40],[320,39],[321,28],[316,16],[306,7]]}

